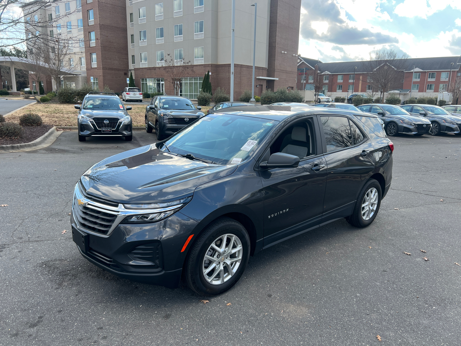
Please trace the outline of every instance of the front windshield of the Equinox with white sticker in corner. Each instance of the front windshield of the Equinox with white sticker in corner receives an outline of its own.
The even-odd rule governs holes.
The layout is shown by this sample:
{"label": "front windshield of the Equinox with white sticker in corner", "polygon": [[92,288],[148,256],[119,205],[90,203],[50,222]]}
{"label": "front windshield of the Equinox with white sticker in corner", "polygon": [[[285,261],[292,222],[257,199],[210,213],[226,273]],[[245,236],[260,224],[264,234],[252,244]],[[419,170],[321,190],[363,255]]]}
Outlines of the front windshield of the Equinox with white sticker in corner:
{"label": "front windshield of the Equinox with white sticker in corner", "polygon": [[165,142],[172,153],[230,165],[245,161],[277,120],[234,114],[210,114]]}

